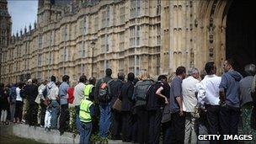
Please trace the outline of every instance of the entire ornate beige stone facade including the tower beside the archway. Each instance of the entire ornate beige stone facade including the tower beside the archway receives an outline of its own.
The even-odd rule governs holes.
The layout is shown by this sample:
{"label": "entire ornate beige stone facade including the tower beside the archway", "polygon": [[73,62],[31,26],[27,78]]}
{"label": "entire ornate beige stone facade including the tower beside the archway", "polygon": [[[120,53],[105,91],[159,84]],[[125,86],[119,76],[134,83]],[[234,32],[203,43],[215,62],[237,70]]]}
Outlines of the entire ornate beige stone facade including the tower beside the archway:
{"label": "entire ornate beige stone facade including the tower beside the archway", "polygon": [[12,36],[1,81],[68,74],[103,77],[147,70],[152,76],[179,66],[226,58],[228,0],[39,1],[35,29]]}

